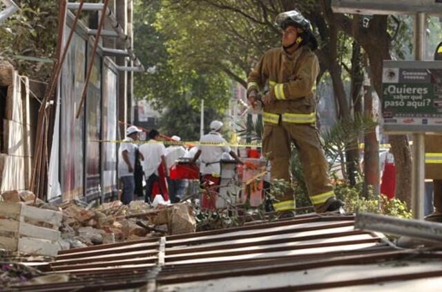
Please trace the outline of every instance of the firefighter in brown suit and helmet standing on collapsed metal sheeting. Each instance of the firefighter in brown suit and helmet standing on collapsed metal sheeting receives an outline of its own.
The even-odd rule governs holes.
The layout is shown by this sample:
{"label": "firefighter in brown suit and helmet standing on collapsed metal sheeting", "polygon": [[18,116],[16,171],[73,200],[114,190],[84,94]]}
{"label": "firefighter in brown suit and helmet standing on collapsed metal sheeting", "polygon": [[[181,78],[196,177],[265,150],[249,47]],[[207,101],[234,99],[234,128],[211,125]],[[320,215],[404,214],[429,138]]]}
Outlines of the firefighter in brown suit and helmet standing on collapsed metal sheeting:
{"label": "firefighter in brown suit and helmet standing on collapsed metal sheeting", "polygon": [[[247,99],[259,107],[258,93],[264,104],[262,120],[263,153],[271,161],[271,179],[291,182],[291,141],[298,149],[309,197],[316,212],[339,210],[343,202],[334,196],[328,176],[320,135],[316,128],[314,86],[319,63],[313,51],[318,42],[310,22],[296,10],[282,12],[276,24],[283,30],[282,47],[267,51],[247,80]],[[294,192],[287,188],[276,196],[273,208],[279,216],[294,217]]]}

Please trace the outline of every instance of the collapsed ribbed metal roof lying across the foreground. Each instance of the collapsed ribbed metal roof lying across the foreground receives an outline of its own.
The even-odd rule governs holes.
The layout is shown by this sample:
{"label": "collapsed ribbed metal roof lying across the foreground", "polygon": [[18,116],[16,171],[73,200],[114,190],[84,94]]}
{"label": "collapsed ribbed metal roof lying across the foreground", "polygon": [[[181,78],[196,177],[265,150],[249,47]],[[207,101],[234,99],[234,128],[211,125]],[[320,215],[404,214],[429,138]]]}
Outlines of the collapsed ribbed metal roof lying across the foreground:
{"label": "collapsed ribbed metal roof lying across the foreground", "polygon": [[442,282],[442,253],[398,249],[353,216],[295,219],[64,250],[69,282],[21,291],[415,291]]}

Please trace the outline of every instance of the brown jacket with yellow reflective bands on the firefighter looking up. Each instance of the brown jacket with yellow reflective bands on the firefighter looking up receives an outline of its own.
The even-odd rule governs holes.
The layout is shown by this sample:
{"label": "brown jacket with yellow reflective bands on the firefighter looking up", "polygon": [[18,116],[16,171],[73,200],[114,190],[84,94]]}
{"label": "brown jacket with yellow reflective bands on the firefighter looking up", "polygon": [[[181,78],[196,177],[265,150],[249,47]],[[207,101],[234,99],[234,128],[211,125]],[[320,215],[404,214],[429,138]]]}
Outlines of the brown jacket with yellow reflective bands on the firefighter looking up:
{"label": "brown jacket with yellow reflective bands on the firefighter looking up", "polygon": [[284,48],[267,51],[250,73],[247,80],[247,96],[250,91],[269,89],[271,104],[264,107],[265,123],[316,122],[314,86],[319,73],[316,55],[306,46],[292,54]]}

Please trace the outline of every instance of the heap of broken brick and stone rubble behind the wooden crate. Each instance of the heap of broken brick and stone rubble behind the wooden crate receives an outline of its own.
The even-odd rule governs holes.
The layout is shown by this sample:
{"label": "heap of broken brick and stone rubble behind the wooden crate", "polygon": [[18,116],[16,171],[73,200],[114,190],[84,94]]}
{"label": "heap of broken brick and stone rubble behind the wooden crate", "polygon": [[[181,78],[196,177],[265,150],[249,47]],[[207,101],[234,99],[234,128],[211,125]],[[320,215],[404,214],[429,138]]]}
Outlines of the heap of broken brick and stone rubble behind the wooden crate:
{"label": "heap of broken brick and stone rubble behind the wooden crate", "polygon": [[132,201],[129,205],[112,201],[93,207],[81,201],[70,201],[56,206],[36,199],[29,191],[5,192],[1,197],[3,201],[61,211],[63,219],[58,241],[61,250],[195,232],[196,229],[193,207],[189,203],[154,208],[144,201]]}

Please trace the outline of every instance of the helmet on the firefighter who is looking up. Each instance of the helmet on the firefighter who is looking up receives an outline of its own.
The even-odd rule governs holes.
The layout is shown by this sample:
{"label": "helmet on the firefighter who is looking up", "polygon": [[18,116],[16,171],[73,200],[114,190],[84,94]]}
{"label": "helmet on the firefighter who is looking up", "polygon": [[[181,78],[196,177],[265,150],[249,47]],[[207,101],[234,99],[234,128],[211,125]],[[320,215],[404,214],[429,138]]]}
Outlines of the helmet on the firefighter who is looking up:
{"label": "helmet on the firefighter who is looking up", "polygon": [[282,30],[285,30],[287,26],[295,26],[298,28],[297,43],[301,46],[309,45],[311,51],[315,51],[318,48],[318,41],[313,33],[313,27],[308,19],[302,16],[297,10],[291,10],[280,13],[276,16],[275,22]]}

